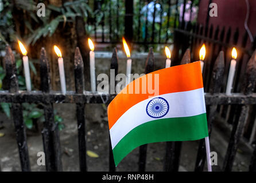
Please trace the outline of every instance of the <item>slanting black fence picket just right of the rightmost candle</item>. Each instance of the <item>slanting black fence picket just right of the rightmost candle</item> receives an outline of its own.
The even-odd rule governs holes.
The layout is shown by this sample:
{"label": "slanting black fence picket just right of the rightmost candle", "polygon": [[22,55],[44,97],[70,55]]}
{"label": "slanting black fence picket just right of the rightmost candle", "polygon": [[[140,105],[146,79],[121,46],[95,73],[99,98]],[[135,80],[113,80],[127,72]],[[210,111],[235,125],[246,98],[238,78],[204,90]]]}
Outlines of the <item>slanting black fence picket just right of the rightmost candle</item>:
{"label": "slanting black fence picket just right of the rightmost candle", "polygon": [[[250,58],[246,67],[246,75],[243,82],[243,93],[248,95],[253,93],[255,88],[256,79],[256,50],[253,56]],[[238,121],[235,121],[232,126],[232,132],[230,141],[228,143],[227,153],[224,158],[223,170],[231,171],[232,165],[235,160],[236,150],[238,148],[239,140],[242,136],[243,127],[247,118],[247,113],[249,111],[249,105],[243,105]]]}

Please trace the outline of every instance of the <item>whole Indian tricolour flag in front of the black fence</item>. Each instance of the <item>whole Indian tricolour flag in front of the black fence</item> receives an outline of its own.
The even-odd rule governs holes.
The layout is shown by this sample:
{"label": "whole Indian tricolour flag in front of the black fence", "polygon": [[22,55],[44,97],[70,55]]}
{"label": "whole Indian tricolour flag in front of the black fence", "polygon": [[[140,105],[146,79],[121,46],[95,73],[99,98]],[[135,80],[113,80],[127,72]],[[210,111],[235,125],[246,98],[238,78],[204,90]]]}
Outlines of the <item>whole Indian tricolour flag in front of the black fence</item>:
{"label": "whole Indian tricolour flag in front of the black fence", "polygon": [[[149,91],[150,78],[159,86],[157,96]],[[108,125],[115,165],[143,144],[207,137],[200,62],[157,70],[130,82],[108,105]]]}

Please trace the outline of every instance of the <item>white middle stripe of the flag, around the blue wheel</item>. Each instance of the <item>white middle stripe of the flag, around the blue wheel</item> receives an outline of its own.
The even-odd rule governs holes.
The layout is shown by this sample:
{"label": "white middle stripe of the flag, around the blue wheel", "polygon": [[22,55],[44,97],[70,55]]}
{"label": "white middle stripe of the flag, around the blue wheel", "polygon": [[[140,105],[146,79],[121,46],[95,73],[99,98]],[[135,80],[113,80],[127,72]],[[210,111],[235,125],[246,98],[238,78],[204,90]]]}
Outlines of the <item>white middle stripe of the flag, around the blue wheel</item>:
{"label": "white middle stripe of the flag, around the blue wheel", "polygon": [[168,101],[168,113],[162,118],[152,118],[148,116],[146,106],[152,98],[148,98],[132,106],[110,129],[112,149],[115,148],[115,145],[117,145],[127,133],[145,122],[164,118],[196,116],[206,112],[203,87],[187,92],[163,94],[157,97],[165,98],[165,100]]}

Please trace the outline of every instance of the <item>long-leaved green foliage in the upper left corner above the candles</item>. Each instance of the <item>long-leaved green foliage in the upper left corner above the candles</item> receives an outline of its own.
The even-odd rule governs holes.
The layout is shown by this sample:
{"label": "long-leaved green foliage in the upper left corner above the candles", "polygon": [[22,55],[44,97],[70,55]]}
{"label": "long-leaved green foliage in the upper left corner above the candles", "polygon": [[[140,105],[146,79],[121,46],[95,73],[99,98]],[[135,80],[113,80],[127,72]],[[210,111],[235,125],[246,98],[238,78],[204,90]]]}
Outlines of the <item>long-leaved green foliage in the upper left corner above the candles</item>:
{"label": "long-leaved green foliage in the upper left corner above the candles", "polygon": [[[84,0],[65,2],[61,7],[45,3],[45,17],[37,16],[37,1],[15,0],[13,2],[15,2],[17,9],[23,10],[28,15],[28,18],[22,20],[29,31],[24,37],[26,45],[33,45],[41,37],[51,37],[61,22],[64,27],[67,22],[75,22],[77,16],[83,17],[85,21],[89,15],[94,16],[91,8],[87,5],[87,1]],[[5,35],[0,34],[0,43],[4,43],[4,45],[7,43],[7,38],[12,37],[15,40],[19,36],[15,35],[13,27],[14,22],[11,14],[14,6],[13,2],[0,0],[0,7],[1,4],[3,5],[3,9],[0,8],[0,30],[1,33],[5,32]],[[97,19],[99,18],[100,16]],[[6,30],[6,27],[9,27],[10,30]]]}

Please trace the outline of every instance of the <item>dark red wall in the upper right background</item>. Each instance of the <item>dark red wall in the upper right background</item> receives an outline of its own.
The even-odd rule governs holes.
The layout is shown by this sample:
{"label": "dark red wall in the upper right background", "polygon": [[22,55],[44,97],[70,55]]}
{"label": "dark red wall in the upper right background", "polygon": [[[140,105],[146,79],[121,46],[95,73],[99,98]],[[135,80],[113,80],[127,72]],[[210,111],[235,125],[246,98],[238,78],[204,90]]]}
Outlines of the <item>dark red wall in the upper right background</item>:
{"label": "dark red wall in the upper right background", "polygon": [[[247,9],[247,3],[249,10]],[[256,1],[254,0],[204,0],[200,1],[199,12],[197,15],[197,22],[205,25],[207,23],[208,7],[210,3],[216,3],[218,6],[218,17],[210,17],[208,19],[208,25],[211,24],[216,28],[220,26],[220,29],[224,26],[226,29],[231,27],[231,33],[234,34],[235,29],[238,27],[239,34],[243,35],[246,31],[245,21],[248,14],[247,25],[253,37],[256,35],[256,23],[254,17],[256,17]],[[231,36],[232,38],[232,36]],[[238,44],[242,42],[242,36],[239,36]],[[232,39],[231,39],[232,42]],[[247,46],[250,46],[250,38],[247,42]]]}

